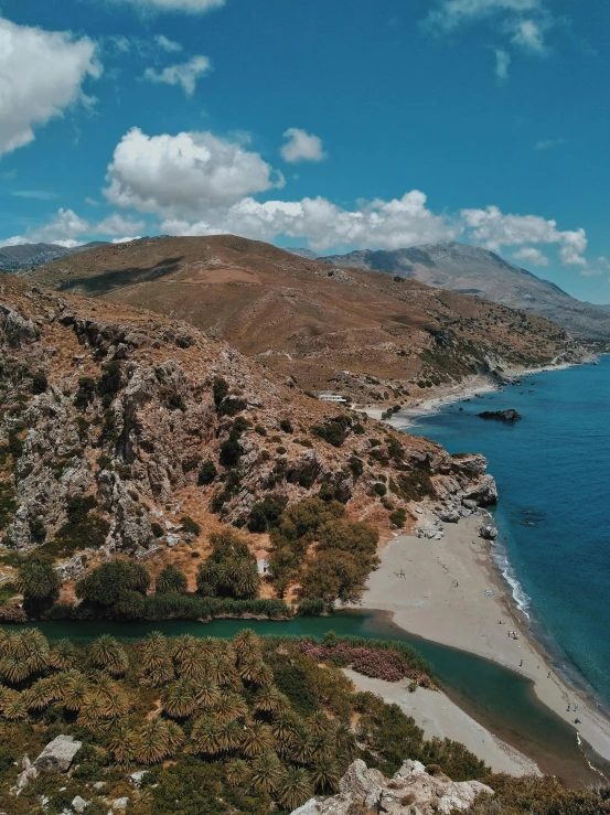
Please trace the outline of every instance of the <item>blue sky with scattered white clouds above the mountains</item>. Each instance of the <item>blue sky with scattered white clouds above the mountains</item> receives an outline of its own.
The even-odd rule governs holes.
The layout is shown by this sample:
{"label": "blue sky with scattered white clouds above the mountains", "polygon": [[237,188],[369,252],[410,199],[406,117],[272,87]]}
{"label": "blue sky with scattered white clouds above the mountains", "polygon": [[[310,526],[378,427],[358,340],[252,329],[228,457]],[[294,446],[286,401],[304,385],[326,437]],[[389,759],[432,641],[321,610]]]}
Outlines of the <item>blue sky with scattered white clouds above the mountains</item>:
{"label": "blue sky with scattered white clouds above the mountains", "polygon": [[3,0],[0,244],[459,239],[610,302],[607,0]]}

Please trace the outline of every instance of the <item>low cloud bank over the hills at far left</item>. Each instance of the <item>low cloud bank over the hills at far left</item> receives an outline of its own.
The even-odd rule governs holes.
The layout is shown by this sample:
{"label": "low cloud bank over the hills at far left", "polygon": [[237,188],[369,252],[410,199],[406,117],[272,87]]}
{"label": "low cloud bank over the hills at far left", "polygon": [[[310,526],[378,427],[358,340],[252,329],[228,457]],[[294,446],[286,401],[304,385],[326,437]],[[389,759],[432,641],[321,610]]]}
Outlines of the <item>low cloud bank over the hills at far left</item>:
{"label": "low cloud bank over the hills at far left", "polygon": [[24,235],[15,235],[4,240],[3,246],[18,244],[58,244],[67,248],[85,243],[85,237],[94,235],[125,235],[140,232],[145,228],[143,221],[125,218],[114,213],[98,223],[90,223],[77,215],[74,210],[60,208],[46,224],[29,229]]}

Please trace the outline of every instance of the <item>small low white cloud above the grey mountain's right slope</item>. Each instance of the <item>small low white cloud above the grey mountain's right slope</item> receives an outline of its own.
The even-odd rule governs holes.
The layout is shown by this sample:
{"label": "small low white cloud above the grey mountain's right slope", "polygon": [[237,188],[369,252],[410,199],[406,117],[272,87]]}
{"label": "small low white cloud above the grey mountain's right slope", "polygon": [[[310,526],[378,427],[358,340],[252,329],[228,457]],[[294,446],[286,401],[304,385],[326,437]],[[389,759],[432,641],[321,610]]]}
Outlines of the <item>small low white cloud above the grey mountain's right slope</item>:
{"label": "small low white cloud above the grey mountain's right slope", "polygon": [[497,206],[486,210],[462,210],[462,218],[472,238],[488,249],[500,251],[503,246],[523,244],[556,244],[564,266],[586,267],[585,229],[559,230],[556,221],[539,215],[505,215]]}

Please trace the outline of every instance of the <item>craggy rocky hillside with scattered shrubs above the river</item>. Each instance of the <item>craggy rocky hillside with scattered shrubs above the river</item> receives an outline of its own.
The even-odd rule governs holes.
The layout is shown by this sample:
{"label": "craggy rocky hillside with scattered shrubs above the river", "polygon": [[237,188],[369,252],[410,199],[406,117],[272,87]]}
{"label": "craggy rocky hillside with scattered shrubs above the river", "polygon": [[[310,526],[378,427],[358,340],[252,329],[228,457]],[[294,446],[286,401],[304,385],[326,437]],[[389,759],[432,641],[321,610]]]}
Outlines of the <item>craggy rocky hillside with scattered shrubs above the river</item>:
{"label": "craggy rocky hillside with scattered shrubs above the river", "polygon": [[414,526],[418,505],[495,500],[482,457],[321,403],[150,312],[6,276],[0,361],[0,537],[44,547],[66,580],[113,553],[178,561],[192,580],[200,532],[245,526],[266,501],[323,494],[387,535],[398,508]]}

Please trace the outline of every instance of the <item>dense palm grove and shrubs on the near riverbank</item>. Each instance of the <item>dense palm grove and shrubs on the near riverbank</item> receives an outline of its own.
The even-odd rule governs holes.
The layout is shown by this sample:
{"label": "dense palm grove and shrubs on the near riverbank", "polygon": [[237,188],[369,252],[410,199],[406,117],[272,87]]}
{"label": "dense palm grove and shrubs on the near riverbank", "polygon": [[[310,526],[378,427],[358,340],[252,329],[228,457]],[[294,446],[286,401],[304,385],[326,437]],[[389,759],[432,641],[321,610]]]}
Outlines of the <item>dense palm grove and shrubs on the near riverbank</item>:
{"label": "dense palm grove and shrubs on the near riverbank", "polygon": [[[425,741],[398,707],[354,693],[288,637],[243,630],[233,642],[152,633],[135,645],[108,635],[75,645],[25,629],[0,633],[0,800],[15,815],[36,812],[43,794],[49,815],[78,794],[88,813],[106,812],[97,781],[104,795],[128,794],[138,815],[174,815],[176,800],[181,815],[227,804],[263,815],[333,792],[358,755],[386,773],[407,755],[458,779],[486,772],[463,747]],[[58,733],[83,741],[77,769],[9,796],[13,761]],[[150,769],[140,792],[126,783],[135,769]]]}

